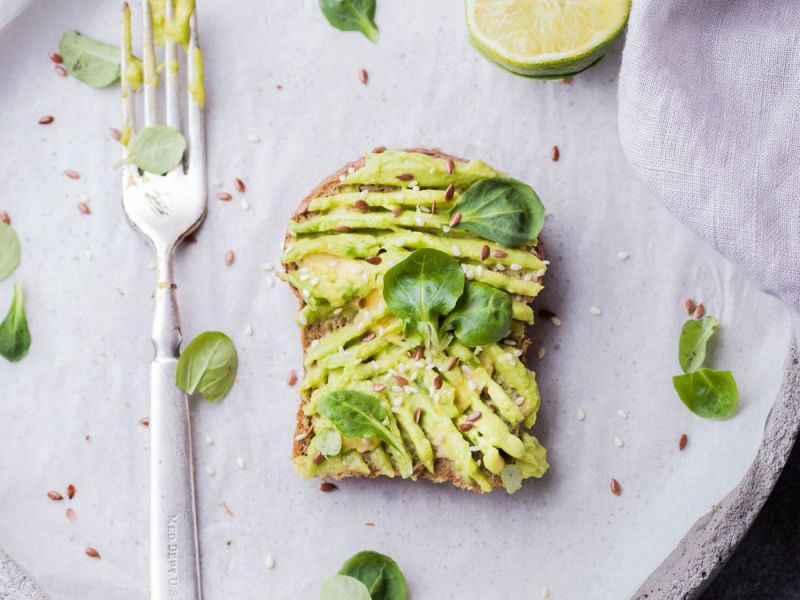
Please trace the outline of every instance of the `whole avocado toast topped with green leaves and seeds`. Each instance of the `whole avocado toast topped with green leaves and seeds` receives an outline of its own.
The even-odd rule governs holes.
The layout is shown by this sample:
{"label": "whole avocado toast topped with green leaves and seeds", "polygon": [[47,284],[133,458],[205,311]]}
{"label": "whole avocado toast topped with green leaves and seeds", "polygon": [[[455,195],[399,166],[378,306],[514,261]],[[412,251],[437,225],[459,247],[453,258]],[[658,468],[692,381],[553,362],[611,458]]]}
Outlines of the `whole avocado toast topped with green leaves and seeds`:
{"label": "whole avocado toast topped with green leaves and seeds", "polygon": [[513,492],[544,474],[524,362],[542,220],[530,187],[438,150],[376,149],[301,203],[281,258],[301,303],[301,476]]}

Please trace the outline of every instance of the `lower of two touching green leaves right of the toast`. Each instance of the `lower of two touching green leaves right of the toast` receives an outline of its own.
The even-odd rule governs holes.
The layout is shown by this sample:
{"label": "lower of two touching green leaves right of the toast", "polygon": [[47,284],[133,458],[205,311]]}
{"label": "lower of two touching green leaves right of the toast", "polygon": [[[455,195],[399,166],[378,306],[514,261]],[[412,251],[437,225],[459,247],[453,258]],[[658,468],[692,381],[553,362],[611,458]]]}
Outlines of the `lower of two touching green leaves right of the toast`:
{"label": "lower of two touching green leaves right of the toast", "polygon": [[672,378],[683,403],[704,419],[727,419],[736,412],[739,388],[730,371],[703,368]]}

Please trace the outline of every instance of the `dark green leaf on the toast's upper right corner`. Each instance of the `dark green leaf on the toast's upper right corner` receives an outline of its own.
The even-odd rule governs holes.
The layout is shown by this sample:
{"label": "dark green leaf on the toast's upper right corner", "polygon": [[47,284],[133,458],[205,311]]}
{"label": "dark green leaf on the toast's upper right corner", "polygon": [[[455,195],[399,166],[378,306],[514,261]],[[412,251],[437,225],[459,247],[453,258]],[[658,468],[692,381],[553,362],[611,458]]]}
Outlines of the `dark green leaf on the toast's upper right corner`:
{"label": "dark green leaf on the toast's upper right corner", "polygon": [[451,209],[463,229],[504,246],[533,242],[544,225],[544,205],[533,188],[510,177],[482,179]]}

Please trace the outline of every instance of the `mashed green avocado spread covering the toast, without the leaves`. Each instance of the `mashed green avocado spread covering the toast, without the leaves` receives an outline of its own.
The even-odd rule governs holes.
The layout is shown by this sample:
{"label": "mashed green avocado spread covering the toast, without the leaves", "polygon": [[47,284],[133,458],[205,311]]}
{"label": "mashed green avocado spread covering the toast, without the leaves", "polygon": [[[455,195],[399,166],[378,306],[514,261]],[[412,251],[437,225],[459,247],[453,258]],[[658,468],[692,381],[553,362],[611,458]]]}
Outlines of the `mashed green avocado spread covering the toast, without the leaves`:
{"label": "mashed green avocado spread covering the toast, without the leaves", "polygon": [[[300,387],[294,461],[301,476],[451,478],[488,492],[502,485],[511,465],[523,478],[544,475],[546,451],[525,431],[536,421],[540,396],[524,363],[524,331],[547,262],[535,239],[505,247],[459,229],[453,217],[472,185],[498,177],[481,161],[373,152],[290,223],[281,277],[302,298],[298,325],[314,340]],[[436,348],[406,340],[402,321],[386,306],[383,278],[420,248],[453,257],[467,281],[509,294],[508,335],[484,347],[450,332],[440,333]],[[325,432],[337,428],[318,407],[339,390],[369,394],[385,407],[382,425],[406,452],[377,437],[342,434],[339,452],[325,454]]]}

